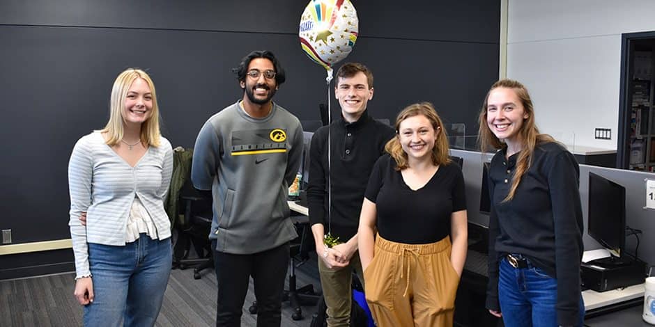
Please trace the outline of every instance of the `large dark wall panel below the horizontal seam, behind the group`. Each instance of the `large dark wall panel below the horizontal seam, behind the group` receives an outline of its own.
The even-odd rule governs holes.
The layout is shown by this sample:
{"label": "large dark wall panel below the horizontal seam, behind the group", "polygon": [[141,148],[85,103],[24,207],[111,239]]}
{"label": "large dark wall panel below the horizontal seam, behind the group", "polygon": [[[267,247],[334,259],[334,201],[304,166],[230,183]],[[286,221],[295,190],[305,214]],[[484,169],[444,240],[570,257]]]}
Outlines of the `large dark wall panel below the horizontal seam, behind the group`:
{"label": "large dark wall panel below the horizontal seam, behind the group", "polygon": [[[164,136],[190,147],[203,122],[242,96],[231,68],[250,49],[278,54],[288,73],[276,101],[300,119],[318,119],[327,101],[325,70],[291,35],[144,29],[3,26],[0,136],[11,159],[0,163],[0,206],[15,242],[68,238],[66,169],[75,141],[108,118],[111,83],[126,67],[152,75]],[[362,38],[348,58],[371,66],[371,114],[394,119],[407,104],[434,102],[445,122],[475,125],[498,71],[498,45]],[[332,96],[333,98],[333,96]],[[339,107],[332,99],[338,115]],[[469,129],[475,132],[475,128]],[[25,211],[24,207],[31,208]],[[43,228],[29,228],[35,221]]]}

